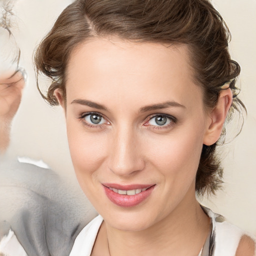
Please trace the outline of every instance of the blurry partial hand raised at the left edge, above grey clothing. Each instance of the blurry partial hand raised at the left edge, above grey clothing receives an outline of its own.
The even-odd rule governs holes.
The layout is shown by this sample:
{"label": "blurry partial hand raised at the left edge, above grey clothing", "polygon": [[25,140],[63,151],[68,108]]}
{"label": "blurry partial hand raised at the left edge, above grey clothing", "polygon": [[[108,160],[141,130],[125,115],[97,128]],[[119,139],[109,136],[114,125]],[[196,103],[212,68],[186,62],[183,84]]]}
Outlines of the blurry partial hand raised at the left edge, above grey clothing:
{"label": "blurry partial hand raised at the left edge, above grey clothing", "polygon": [[0,73],[0,154],[9,144],[9,131],[20,100],[25,81],[20,71]]}

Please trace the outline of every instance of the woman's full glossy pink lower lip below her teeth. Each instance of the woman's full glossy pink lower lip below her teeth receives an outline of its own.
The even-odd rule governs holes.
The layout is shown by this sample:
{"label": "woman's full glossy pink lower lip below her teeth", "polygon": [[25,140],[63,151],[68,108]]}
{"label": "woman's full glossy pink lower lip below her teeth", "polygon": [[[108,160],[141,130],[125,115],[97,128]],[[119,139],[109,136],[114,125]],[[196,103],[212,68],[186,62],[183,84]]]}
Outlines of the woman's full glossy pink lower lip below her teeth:
{"label": "woman's full glossy pink lower lip below her teeth", "polygon": [[106,196],[111,202],[121,207],[132,207],[144,201],[151,194],[155,185],[150,186],[145,191],[134,195],[118,194],[104,185],[103,187]]}

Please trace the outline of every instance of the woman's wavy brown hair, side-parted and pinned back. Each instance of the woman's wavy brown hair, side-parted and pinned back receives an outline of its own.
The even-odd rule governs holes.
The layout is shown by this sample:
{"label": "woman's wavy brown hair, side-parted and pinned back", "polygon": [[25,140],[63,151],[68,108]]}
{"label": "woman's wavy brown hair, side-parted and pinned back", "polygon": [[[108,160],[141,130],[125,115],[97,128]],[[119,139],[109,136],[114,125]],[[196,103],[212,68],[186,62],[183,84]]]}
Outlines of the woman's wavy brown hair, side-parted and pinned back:
{"label": "woman's wavy brown hair, side-parted and pinned back", "polygon": [[[214,107],[221,85],[230,81],[233,102],[229,109],[244,105],[237,97],[237,62],[228,52],[229,30],[208,0],[76,0],[57,18],[35,53],[37,75],[52,79],[42,97],[57,105],[54,90],[65,96],[65,71],[70,53],[82,41],[96,36],[117,36],[137,42],[185,43],[189,47],[194,79],[204,91],[206,107]],[[38,87],[38,82],[37,82]],[[222,168],[216,143],[203,145],[196,174],[198,194],[214,193],[221,186]]]}

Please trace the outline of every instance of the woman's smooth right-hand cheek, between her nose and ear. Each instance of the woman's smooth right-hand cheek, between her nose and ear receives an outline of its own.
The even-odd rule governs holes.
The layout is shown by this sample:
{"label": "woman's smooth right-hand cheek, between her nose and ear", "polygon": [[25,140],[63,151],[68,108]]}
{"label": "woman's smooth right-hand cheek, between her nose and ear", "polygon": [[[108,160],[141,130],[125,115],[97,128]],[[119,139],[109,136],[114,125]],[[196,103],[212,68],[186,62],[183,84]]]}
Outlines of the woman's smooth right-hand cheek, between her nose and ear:
{"label": "woman's smooth right-hand cheek, between her nose and ear", "polygon": [[[190,177],[194,179],[201,149],[203,131],[200,128],[182,127],[166,136],[148,137],[147,157],[162,172],[165,179],[180,178],[180,182]],[[175,182],[176,183],[176,182]]]}

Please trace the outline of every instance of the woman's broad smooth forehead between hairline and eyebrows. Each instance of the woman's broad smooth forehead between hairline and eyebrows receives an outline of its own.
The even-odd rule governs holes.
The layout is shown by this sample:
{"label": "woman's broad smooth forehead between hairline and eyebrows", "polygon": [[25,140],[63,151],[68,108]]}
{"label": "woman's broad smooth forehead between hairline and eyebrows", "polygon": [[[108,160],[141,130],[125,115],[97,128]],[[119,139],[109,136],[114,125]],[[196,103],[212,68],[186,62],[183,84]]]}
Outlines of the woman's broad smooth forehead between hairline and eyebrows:
{"label": "woman's broad smooth forehead between hairline and eyebrows", "polygon": [[200,87],[193,83],[186,45],[104,38],[86,41],[72,51],[66,92],[67,103],[76,97],[130,100],[135,94],[141,96],[140,102],[148,101],[145,104],[163,100],[184,104],[193,94],[201,99]]}

